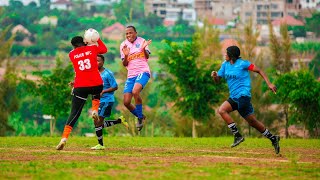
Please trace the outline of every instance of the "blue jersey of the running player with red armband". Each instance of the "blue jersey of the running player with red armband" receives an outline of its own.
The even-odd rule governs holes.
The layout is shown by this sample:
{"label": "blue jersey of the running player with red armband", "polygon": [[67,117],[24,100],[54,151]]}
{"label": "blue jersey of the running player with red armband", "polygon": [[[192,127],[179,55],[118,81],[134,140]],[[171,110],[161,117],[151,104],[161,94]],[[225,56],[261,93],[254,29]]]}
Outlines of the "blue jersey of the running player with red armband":
{"label": "blue jersey of the running player with red armband", "polygon": [[250,65],[249,61],[243,59],[236,60],[234,64],[230,61],[222,63],[218,76],[226,79],[230,98],[251,97],[251,79],[248,70]]}

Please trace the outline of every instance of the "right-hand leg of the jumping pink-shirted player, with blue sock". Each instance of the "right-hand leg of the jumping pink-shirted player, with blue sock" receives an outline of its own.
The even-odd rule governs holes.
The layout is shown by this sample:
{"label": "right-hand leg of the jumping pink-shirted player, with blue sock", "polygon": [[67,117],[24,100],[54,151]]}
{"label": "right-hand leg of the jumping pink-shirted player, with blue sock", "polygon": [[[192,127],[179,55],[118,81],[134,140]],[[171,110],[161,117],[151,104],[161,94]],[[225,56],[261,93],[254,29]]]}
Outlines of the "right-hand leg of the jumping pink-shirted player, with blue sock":
{"label": "right-hand leg of the jumping pink-shirted player, with blue sock", "polygon": [[132,94],[135,100],[136,110],[138,114],[138,122],[136,125],[136,127],[138,128],[138,131],[141,131],[143,127],[143,123],[145,121],[145,116],[143,115],[143,112],[142,112],[142,98],[140,96],[140,92],[147,85],[149,79],[150,79],[149,73],[139,74],[136,78],[136,81],[132,90]]}

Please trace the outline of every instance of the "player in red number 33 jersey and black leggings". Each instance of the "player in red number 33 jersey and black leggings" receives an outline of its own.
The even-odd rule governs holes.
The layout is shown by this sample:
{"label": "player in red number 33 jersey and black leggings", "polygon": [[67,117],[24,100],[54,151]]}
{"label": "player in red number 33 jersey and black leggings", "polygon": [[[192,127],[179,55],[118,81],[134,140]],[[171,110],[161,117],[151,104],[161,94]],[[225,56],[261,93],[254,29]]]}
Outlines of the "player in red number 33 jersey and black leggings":
{"label": "player in red number 33 jersey and black leggings", "polygon": [[62,150],[66,145],[68,136],[77,122],[89,94],[92,95],[93,118],[99,118],[97,112],[100,93],[103,89],[103,81],[98,70],[97,55],[108,51],[106,45],[100,39],[98,40],[98,45],[86,45],[81,36],[73,37],[71,44],[74,49],[70,51],[69,58],[75,71],[75,79],[72,83],[71,114],[64,127],[62,139],[56,147],[57,150]]}

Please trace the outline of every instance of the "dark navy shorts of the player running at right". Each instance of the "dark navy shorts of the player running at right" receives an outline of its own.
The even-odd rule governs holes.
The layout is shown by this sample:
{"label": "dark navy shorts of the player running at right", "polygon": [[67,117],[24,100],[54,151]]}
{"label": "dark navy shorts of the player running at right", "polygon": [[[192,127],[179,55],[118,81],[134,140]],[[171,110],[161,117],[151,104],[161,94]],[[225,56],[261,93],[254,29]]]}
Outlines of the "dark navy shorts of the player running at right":
{"label": "dark navy shorts of the player running at right", "polygon": [[227,101],[231,104],[232,109],[237,110],[243,118],[253,114],[251,97],[241,96],[240,98],[229,98]]}

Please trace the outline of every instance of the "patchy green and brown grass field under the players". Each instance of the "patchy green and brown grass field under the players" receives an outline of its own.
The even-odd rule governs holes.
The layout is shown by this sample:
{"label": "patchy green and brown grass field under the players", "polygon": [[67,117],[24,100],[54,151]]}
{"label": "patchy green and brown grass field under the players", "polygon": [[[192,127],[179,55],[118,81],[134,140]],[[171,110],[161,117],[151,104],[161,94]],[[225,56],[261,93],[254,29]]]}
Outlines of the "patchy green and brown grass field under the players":
{"label": "patchy green and brown grass field under the players", "polygon": [[274,154],[268,139],[232,137],[1,137],[0,179],[320,179],[320,140],[282,139]]}

